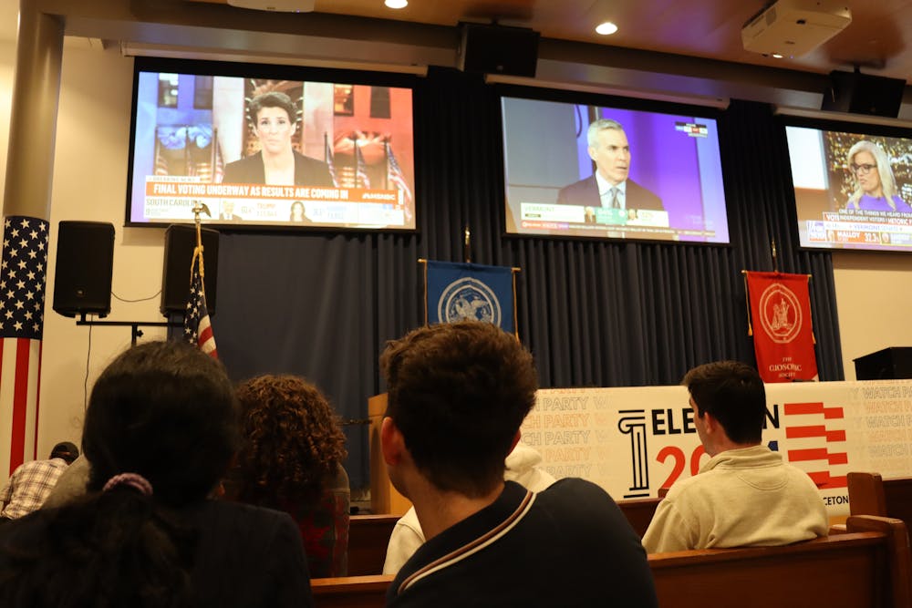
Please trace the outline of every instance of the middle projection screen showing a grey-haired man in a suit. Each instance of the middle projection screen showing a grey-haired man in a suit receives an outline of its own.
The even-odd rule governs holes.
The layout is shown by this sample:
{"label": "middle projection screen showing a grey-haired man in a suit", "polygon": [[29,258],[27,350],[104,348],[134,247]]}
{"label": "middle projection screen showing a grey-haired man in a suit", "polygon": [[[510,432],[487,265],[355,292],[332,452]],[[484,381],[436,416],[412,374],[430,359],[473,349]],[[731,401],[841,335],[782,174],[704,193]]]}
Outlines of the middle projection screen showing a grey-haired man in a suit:
{"label": "middle projection screen showing a grey-haired man in a suit", "polygon": [[[501,104],[507,233],[729,242],[715,119],[530,98]],[[596,129],[590,146],[598,120],[620,129]],[[606,195],[612,186],[617,195]]]}

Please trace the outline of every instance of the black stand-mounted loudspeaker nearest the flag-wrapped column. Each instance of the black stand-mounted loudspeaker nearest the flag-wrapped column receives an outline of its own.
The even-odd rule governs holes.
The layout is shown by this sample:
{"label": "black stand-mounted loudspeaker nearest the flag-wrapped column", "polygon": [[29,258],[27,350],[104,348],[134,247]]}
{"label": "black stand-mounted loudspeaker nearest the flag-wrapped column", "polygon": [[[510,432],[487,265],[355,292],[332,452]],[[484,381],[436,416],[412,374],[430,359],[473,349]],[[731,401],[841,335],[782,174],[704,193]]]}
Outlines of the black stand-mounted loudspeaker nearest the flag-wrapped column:
{"label": "black stand-mounted loudspeaker nearest the flag-wrapped column", "polygon": [[54,310],[64,316],[111,312],[114,225],[108,222],[60,222]]}

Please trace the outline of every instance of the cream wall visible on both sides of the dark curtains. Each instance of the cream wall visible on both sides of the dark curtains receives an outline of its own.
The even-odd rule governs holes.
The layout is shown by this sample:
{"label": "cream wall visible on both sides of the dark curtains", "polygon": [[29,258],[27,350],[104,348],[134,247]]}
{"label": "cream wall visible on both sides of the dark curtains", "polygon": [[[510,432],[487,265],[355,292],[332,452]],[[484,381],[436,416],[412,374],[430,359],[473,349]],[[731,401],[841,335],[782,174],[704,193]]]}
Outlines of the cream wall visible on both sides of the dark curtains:
{"label": "cream wall visible on both sides of the dark curtains", "polygon": [[[0,111],[9,116],[15,44],[0,41]],[[132,60],[112,48],[67,42],[51,207],[47,294],[53,294],[57,224],[61,220],[111,222],[117,234],[113,300],[107,320],[161,321],[161,229],[123,228],[130,142]],[[9,125],[0,120],[0,180],[5,176]],[[2,181],[0,181],[2,186]],[[912,345],[912,258],[901,254],[834,253],[846,379],[855,379],[852,359],[886,346]],[[144,339],[161,338],[147,328]],[[38,456],[57,441],[78,442],[87,387],[112,356],[130,344],[129,327],[77,326],[53,312],[48,296],[38,425]],[[827,345],[818,344],[818,348]],[[87,372],[88,366],[88,372]]]}

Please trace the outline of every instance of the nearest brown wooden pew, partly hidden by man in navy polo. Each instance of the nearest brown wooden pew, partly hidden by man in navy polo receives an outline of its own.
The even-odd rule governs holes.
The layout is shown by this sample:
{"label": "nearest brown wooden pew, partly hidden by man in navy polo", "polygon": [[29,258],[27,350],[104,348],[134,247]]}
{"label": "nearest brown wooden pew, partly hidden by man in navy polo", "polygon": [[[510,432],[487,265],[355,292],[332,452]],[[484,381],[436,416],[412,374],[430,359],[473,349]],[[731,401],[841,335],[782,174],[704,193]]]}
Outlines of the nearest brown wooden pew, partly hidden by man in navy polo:
{"label": "nearest brown wooden pew, partly hidden by man in navy polo", "polygon": [[[784,547],[648,556],[660,608],[912,608],[906,525],[850,516],[846,533]],[[382,606],[392,576],[315,579],[317,608]],[[566,584],[554,581],[554,584]],[[606,598],[610,590],[606,590]]]}

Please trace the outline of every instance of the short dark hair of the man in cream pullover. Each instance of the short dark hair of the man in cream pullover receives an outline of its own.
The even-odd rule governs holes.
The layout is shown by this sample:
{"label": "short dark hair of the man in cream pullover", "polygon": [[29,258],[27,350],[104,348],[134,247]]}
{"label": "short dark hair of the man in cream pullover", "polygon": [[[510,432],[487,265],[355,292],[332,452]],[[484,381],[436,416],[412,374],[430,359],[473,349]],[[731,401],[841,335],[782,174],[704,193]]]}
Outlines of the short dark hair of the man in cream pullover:
{"label": "short dark hair of the man in cream pullover", "polygon": [[738,361],[708,363],[691,369],[681,384],[688,387],[697,404],[697,415],[709,412],[731,441],[762,441],[766,390],[753,367]]}

